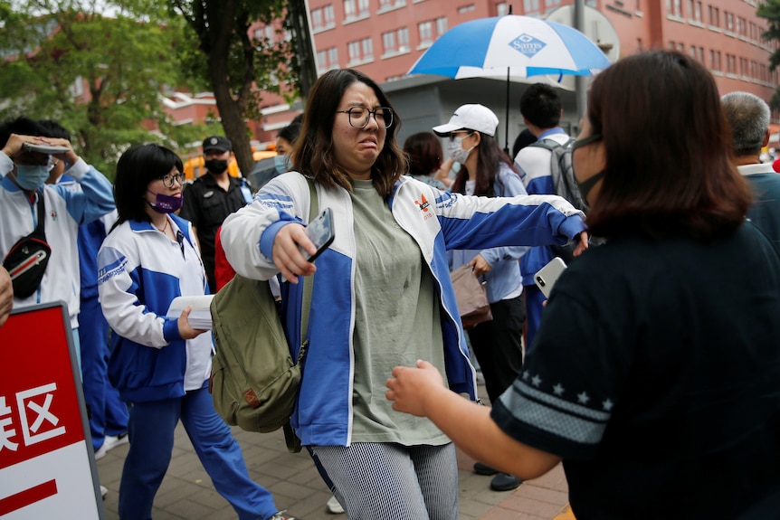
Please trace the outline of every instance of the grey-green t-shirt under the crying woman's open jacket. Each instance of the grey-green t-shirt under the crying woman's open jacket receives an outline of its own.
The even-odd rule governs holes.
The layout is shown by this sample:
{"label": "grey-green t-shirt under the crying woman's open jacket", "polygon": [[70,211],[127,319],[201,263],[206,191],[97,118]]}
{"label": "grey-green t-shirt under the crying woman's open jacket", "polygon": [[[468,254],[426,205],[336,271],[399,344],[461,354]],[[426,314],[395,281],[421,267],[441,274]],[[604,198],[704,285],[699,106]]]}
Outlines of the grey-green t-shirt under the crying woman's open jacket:
{"label": "grey-green t-shirt under the crying woman's open jacket", "polygon": [[352,441],[446,444],[433,422],[394,411],[385,399],[395,366],[424,359],[444,373],[433,275],[371,181],[355,181],[351,196],[357,245]]}

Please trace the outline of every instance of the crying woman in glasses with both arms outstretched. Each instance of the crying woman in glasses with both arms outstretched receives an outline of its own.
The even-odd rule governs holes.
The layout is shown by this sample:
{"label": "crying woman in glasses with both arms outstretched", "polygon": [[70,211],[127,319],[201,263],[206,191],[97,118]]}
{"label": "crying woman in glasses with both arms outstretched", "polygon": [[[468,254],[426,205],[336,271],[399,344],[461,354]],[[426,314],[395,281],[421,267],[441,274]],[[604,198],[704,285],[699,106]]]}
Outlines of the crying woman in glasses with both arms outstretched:
{"label": "crying woman in glasses with both arms outstretched", "polygon": [[[559,197],[533,205],[526,197],[463,197],[405,176],[399,127],[376,82],[359,71],[326,72],[304,110],[292,153],[298,171],[274,178],[228,217],[222,241],[238,273],[281,272],[289,282],[281,287],[282,318],[295,358],[300,277],[317,271],[290,420],[349,518],[456,520],[455,449],[432,422],[391,409],[387,374],[404,360],[431,358],[453,390],[475,399],[447,248],[568,241],[585,226]],[[299,248],[315,252],[301,225],[311,203],[307,179],[335,228],[316,268]],[[557,204],[555,215],[548,204]]]}

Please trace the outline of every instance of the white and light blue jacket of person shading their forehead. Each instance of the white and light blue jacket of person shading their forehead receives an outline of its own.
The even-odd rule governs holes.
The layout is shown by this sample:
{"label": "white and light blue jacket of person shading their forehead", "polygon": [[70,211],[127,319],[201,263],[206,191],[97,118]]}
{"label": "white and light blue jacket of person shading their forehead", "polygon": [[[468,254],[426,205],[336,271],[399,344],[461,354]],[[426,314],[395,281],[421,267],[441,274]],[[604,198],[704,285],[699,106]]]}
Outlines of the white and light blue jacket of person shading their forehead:
{"label": "white and light blue jacket of person shading their forehead", "polygon": [[[38,223],[35,203],[8,175],[14,163],[0,152],[0,261],[14,243],[27,236]],[[68,169],[78,186],[43,184],[37,196],[46,205],[46,242],[52,257],[41,285],[28,298],[14,298],[14,308],[62,300],[68,304],[71,327],[79,326],[81,274],[77,239],[79,226],[110,213],[116,206],[111,182],[83,159]],[[5,178],[4,178],[5,177]],[[36,199],[37,201],[37,199]]]}

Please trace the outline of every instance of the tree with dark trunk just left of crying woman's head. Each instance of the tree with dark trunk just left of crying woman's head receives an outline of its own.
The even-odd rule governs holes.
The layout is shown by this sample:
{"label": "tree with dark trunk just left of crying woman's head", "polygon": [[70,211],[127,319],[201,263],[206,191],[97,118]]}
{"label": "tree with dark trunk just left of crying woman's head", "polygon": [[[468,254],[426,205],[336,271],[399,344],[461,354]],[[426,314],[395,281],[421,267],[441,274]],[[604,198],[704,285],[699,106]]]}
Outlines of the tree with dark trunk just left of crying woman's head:
{"label": "tree with dark trunk just left of crying woman's head", "polygon": [[[289,24],[269,38],[250,34],[255,22],[278,24],[285,0],[172,0],[172,14],[181,14],[189,27],[188,43],[178,58],[190,80],[214,92],[225,136],[233,141],[239,168],[254,165],[246,121],[260,118],[263,92],[293,99],[298,93],[300,67],[293,54],[294,38],[279,38]],[[274,40],[279,40],[275,42]]]}

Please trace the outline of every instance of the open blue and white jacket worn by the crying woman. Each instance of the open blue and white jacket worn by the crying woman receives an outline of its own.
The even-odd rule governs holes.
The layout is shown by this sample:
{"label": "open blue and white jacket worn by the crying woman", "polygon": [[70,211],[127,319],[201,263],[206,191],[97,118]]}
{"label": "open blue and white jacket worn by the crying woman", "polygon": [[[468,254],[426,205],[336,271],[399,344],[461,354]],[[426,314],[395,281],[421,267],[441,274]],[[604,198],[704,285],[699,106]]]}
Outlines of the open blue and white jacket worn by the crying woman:
{"label": "open blue and white jacket worn by the crying woman", "polygon": [[[309,352],[291,424],[304,445],[348,446],[352,438],[352,391],[355,370],[352,338],[355,324],[356,241],[352,201],[342,188],[317,184],[319,208],[333,210],[336,239],[317,260],[309,314]],[[476,398],[474,369],[450,281],[447,250],[485,249],[547,243],[550,235],[564,244],[585,230],[582,213],[556,196],[511,199],[469,197],[439,191],[403,177],[395,186],[390,209],[395,222],[420,248],[436,280],[442,304],[444,363],[449,387]],[[309,184],[297,172],[263,186],[255,201],[230,215],[221,240],[227,259],[245,277],[270,279],[279,272],[271,261],[277,232],[290,222],[309,218]],[[552,233],[551,233],[552,230]],[[302,283],[284,284],[285,329],[290,351],[300,345]],[[389,376],[389,374],[388,374]]]}

